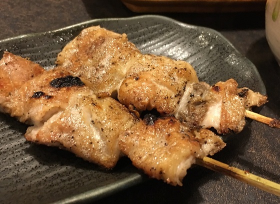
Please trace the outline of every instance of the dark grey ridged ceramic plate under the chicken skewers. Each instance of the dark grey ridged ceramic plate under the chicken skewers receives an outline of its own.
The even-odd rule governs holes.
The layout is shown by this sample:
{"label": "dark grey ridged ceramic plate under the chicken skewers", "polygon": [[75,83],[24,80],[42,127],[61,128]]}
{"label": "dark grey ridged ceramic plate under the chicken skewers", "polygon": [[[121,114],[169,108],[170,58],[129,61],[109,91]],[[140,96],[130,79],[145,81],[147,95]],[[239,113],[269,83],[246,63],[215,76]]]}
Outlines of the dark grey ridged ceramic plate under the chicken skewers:
{"label": "dark grey ridged ceramic plate under the chicken skewers", "polygon": [[[101,25],[119,33],[144,53],[189,61],[200,80],[234,78],[240,86],[265,93],[255,66],[218,32],[172,19],[145,15],[97,19],[59,30],[0,40],[0,49],[29,57],[45,68],[82,28]],[[0,114],[0,203],[71,203],[99,199],[146,177],[123,158],[103,170],[69,152],[26,142],[26,126]]]}

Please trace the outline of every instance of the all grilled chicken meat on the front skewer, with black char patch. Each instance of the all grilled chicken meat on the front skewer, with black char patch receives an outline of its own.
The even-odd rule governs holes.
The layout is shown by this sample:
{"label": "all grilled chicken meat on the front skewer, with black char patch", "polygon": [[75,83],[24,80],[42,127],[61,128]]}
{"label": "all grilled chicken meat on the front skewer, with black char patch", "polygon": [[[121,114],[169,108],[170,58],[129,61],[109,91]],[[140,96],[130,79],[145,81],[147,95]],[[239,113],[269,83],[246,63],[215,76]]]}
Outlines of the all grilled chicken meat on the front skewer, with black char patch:
{"label": "all grilled chicken meat on the front skewer, with black char patch", "polygon": [[[36,75],[25,71],[32,67]],[[63,69],[45,71],[4,53],[1,78],[25,72],[16,84],[2,83],[0,105],[2,111],[33,125],[24,135],[29,141],[58,146],[106,168],[112,168],[124,153],[150,177],[173,185],[182,184],[195,158],[225,146],[210,130],[190,129],[173,116],[139,120],[113,98],[98,98],[82,78]]]}

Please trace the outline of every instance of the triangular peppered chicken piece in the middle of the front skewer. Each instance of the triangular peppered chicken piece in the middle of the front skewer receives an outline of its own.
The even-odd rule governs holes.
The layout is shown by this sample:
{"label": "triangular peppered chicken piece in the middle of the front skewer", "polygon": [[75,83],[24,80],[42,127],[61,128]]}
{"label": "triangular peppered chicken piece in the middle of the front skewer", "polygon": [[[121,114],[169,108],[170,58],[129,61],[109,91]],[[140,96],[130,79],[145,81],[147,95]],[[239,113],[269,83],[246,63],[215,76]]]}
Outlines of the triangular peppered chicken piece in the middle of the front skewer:
{"label": "triangular peppered chicken piece in the middle of the front skewer", "polygon": [[85,160],[112,168],[119,156],[118,135],[137,119],[116,100],[97,98],[82,88],[69,94],[65,109],[40,126],[31,126],[25,137],[46,145],[59,145]]}

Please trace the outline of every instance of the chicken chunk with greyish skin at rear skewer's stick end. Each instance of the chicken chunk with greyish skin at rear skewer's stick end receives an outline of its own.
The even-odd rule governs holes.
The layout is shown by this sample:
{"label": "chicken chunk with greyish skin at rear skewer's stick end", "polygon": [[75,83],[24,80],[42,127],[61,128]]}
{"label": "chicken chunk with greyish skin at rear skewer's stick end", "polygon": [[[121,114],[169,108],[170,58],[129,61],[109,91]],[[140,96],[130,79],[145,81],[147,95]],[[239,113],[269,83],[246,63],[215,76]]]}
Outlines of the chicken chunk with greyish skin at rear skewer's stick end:
{"label": "chicken chunk with greyish skin at rear skewer's stick end", "polygon": [[213,86],[189,83],[174,114],[189,126],[214,127],[222,134],[239,132],[245,125],[245,109],[262,105],[267,97],[237,85],[234,79]]}

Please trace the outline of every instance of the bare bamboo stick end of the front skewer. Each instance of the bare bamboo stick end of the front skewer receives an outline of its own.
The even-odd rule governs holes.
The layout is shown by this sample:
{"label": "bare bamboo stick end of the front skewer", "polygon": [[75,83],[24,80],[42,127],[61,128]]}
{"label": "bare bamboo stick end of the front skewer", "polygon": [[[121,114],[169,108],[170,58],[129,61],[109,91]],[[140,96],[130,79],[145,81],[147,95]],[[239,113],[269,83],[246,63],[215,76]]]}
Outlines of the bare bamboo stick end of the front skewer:
{"label": "bare bamboo stick end of the front skewer", "polygon": [[267,180],[265,178],[261,178],[257,175],[249,173],[246,170],[241,170],[241,169],[229,166],[225,163],[219,162],[219,161],[212,159],[210,157],[207,157],[207,156],[203,157],[203,159],[196,158],[196,164],[209,168],[216,172],[220,172],[225,175],[229,175],[242,182],[245,182],[252,186],[258,187],[266,192],[280,196],[280,184]]}

